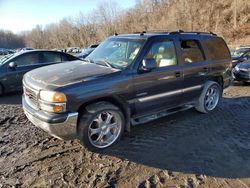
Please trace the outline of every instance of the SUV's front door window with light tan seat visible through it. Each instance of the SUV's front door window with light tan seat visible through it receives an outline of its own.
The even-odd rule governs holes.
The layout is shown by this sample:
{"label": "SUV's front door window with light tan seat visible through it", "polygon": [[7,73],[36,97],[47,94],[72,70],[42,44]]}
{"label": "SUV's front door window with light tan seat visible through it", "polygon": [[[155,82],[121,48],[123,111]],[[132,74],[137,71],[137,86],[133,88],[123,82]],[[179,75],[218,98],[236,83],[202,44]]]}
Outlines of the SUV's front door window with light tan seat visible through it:
{"label": "SUV's front door window with light tan seat visible through it", "polygon": [[176,65],[176,53],[172,41],[155,42],[146,58],[154,58],[158,67]]}

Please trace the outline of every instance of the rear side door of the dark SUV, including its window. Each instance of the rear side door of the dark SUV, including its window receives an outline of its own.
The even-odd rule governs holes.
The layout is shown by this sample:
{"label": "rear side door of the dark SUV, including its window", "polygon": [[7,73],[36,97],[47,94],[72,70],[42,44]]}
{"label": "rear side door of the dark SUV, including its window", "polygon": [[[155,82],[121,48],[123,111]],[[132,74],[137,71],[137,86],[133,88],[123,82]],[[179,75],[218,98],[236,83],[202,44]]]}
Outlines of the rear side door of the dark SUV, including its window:
{"label": "rear side door of the dark SUV, including its window", "polygon": [[192,102],[201,94],[209,75],[210,62],[206,59],[198,38],[181,36],[180,49],[184,75],[182,103]]}

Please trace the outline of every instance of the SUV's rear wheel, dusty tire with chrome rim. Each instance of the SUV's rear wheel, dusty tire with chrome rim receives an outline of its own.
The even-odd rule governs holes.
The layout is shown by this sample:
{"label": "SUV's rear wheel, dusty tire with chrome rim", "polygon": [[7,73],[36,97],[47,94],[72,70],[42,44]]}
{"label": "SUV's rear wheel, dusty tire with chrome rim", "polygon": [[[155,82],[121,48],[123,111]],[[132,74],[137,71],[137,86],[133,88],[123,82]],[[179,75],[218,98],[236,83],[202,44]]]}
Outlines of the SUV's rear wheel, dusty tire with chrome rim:
{"label": "SUV's rear wheel, dusty tire with chrome rim", "polygon": [[208,81],[204,85],[195,109],[201,113],[209,113],[217,107],[221,96],[222,87],[217,82]]}

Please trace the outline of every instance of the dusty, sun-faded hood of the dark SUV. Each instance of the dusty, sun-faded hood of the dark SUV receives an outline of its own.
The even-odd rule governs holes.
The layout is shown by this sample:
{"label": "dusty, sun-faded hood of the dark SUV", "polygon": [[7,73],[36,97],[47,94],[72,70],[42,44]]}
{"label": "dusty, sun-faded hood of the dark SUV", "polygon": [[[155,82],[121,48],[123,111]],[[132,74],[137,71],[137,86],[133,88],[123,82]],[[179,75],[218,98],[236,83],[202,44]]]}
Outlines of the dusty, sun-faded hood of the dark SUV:
{"label": "dusty, sun-faded hood of the dark SUV", "polygon": [[116,71],[119,70],[94,63],[71,61],[32,70],[25,74],[24,82],[35,89],[47,86],[63,87],[92,80]]}

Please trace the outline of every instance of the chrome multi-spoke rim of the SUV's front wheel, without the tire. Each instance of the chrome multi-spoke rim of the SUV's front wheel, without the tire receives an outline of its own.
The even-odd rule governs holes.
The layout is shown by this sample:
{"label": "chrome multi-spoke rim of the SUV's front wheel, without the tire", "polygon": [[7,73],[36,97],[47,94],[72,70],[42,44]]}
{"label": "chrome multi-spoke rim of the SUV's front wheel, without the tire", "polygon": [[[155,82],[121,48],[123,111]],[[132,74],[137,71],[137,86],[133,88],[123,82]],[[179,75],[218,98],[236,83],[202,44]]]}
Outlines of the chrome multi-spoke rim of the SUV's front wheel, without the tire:
{"label": "chrome multi-spoke rim of the SUV's front wheel, without the tire", "polygon": [[99,113],[88,128],[90,143],[97,148],[106,148],[119,137],[122,129],[122,119],[115,111]]}

